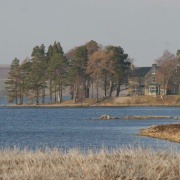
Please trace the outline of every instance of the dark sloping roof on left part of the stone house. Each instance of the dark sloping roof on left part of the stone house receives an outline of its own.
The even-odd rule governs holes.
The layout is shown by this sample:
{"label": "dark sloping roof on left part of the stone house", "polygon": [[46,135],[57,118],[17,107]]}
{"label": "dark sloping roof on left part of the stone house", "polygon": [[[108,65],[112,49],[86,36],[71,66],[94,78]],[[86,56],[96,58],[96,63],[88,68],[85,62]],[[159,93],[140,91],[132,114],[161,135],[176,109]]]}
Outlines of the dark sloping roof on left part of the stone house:
{"label": "dark sloping roof on left part of the stone house", "polygon": [[144,77],[152,67],[135,67],[129,77]]}

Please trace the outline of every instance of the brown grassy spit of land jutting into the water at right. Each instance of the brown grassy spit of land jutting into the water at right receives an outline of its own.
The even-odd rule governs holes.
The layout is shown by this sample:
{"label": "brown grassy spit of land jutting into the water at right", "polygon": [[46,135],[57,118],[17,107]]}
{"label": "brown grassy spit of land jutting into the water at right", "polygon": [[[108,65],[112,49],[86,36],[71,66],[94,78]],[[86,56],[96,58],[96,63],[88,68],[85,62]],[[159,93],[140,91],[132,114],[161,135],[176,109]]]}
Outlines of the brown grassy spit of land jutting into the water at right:
{"label": "brown grassy spit of land jutting into the water at right", "polygon": [[165,124],[141,129],[137,135],[180,142],[180,124]]}

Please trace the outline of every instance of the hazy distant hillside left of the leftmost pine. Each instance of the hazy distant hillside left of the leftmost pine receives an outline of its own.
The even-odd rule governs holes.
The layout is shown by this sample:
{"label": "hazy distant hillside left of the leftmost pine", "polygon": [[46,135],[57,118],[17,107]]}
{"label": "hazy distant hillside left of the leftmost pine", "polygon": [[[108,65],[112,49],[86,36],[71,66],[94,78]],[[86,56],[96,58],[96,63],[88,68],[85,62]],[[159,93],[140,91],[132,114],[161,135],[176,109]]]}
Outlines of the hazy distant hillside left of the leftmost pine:
{"label": "hazy distant hillside left of the leftmost pine", "polygon": [[10,69],[9,65],[0,64],[0,96],[1,97],[7,95],[4,82],[8,78],[9,69]]}

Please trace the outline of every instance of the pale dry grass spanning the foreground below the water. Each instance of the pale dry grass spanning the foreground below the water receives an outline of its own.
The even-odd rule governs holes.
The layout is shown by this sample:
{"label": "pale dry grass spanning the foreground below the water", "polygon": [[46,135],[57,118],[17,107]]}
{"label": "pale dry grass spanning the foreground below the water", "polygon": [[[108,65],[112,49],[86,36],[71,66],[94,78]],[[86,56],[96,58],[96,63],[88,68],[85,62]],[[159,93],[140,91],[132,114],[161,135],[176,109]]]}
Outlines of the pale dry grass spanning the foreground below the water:
{"label": "pale dry grass spanning the foreground below the water", "polygon": [[123,148],[83,153],[46,150],[0,150],[1,180],[156,180],[180,179],[180,153]]}

